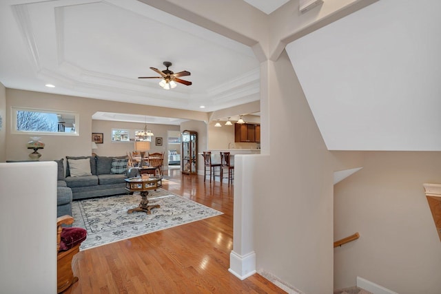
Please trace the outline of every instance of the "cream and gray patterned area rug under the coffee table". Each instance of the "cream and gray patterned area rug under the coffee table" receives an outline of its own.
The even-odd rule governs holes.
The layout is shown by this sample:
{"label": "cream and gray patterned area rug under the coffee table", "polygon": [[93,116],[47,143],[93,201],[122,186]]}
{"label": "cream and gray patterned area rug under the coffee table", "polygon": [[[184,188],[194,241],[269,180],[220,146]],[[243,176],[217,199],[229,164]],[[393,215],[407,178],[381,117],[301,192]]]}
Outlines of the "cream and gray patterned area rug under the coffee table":
{"label": "cream and gray patterned area rug under the coffee table", "polygon": [[72,202],[73,226],[88,231],[88,238],[81,243],[80,250],[222,214],[165,189],[150,191],[148,199],[149,204],[161,206],[152,209],[152,214],[137,211],[127,213],[128,209],[139,205],[139,193]]}

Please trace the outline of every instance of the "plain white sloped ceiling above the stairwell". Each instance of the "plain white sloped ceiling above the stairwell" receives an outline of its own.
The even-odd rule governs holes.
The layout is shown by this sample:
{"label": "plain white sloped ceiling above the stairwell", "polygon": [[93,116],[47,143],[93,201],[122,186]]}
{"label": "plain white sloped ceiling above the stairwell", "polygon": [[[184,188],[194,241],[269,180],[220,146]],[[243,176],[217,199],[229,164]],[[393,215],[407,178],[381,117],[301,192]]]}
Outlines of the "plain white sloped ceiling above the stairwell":
{"label": "plain white sloped ceiling above the stairwell", "polygon": [[440,1],[378,1],[287,46],[330,150],[441,150]]}

